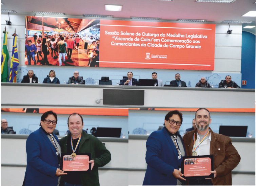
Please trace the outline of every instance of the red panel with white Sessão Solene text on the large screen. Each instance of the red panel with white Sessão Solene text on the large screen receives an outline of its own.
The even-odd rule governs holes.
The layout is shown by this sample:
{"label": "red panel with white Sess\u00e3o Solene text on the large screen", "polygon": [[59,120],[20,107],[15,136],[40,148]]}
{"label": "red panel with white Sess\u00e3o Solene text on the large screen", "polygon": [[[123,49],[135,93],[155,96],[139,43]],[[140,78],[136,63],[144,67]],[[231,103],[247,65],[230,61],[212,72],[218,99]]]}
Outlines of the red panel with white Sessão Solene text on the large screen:
{"label": "red panel with white Sess\u00e3o Solene text on the large screen", "polygon": [[214,70],[215,25],[100,20],[100,67]]}

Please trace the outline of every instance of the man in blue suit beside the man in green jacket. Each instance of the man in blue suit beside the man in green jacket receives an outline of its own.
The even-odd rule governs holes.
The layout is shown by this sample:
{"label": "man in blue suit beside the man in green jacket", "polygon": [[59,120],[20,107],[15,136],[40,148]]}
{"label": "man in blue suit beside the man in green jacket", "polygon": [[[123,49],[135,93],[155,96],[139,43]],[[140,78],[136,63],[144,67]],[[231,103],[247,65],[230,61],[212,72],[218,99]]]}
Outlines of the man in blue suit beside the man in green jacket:
{"label": "man in blue suit beside the man in green jacket", "polygon": [[[56,124],[56,113],[47,111],[41,116],[41,127],[28,136],[27,167],[23,185],[57,186],[59,176],[67,174],[59,169],[61,149],[57,136],[53,134]],[[51,141],[50,134],[53,135],[54,142]]]}

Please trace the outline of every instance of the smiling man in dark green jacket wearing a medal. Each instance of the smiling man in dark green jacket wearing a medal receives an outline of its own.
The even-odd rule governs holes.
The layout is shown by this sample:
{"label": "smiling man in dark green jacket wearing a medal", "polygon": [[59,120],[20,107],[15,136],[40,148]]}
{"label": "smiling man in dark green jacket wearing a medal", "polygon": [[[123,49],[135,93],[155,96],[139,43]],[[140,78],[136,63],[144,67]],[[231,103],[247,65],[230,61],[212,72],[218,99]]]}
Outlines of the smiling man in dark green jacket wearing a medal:
{"label": "smiling man in dark green jacket wearing a medal", "polygon": [[69,172],[61,177],[60,185],[100,185],[98,167],[110,162],[111,154],[105,145],[96,137],[83,132],[83,118],[78,113],[71,114],[67,119],[71,134],[60,140],[62,153],[91,153],[91,173]]}

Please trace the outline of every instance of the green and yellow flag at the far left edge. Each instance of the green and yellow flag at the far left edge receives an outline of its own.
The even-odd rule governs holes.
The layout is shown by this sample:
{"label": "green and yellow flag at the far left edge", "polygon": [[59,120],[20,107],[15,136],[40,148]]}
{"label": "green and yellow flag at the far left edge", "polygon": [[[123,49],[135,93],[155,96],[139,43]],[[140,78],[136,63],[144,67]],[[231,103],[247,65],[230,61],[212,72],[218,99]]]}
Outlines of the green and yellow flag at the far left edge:
{"label": "green and yellow flag at the far left edge", "polygon": [[[7,82],[8,76],[8,60],[9,53],[7,50],[7,34],[6,31],[3,31],[3,49],[2,49],[2,57],[1,57],[1,82]],[[8,33],[8,32],[7,32]],[[8,79],[9,82],[9,79]]]}

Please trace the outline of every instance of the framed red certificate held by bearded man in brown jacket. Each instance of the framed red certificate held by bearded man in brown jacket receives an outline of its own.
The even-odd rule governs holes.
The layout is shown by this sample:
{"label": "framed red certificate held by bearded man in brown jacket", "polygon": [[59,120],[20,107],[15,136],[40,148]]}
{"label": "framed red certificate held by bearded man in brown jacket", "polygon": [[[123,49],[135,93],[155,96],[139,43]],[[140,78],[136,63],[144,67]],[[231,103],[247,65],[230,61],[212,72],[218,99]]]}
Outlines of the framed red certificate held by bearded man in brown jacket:
{"label": "framed red certificate held by bearded man in brown jacket", "polygon": [[185,156],[181,164],[181,173],[185,179],[213,178],[213,155]]}

